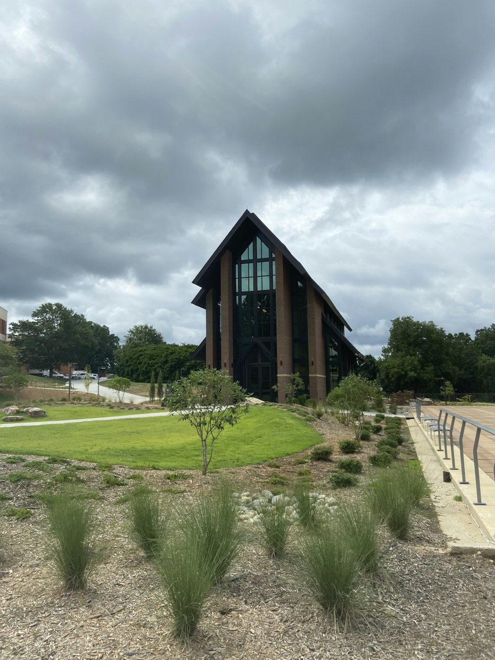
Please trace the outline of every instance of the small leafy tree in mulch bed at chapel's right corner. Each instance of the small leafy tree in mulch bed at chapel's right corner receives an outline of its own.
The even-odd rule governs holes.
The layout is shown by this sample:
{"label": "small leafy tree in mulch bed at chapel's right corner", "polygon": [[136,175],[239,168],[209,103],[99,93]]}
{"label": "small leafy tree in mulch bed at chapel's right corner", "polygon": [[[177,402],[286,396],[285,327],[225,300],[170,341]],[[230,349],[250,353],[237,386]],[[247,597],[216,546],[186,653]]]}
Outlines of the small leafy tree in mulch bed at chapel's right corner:
{"label": "small leafy tree in mulch bed at chapel's right corner", "polygon": [[337,407],[341,413],[343,423],[348,426],[351,420],[356,420],[356,436],[359,438],[361,424],[364,420],[364,411],[368,403],[378,395],[378,385],[361,376],[346,376],[327,396],[330,407]]}

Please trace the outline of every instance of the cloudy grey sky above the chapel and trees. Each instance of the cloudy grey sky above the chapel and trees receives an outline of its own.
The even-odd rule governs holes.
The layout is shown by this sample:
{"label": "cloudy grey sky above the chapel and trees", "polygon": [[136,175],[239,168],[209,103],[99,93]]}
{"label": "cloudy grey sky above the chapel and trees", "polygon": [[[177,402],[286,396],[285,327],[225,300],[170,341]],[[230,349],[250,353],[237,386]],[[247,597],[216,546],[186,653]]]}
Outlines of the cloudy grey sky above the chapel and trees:
{"label": "cloudy grey sky above the chapel and trees", "polygon": [[0,8],[0,306],[199,342],[191,280],[246,207],[362,352],[495,322],[492,0]]}

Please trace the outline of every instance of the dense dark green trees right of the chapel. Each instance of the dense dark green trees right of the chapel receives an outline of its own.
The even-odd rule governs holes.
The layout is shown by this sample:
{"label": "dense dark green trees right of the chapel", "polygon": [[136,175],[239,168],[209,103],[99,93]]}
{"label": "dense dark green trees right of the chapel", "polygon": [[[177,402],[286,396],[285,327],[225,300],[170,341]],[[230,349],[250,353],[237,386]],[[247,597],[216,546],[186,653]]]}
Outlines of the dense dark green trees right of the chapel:
{"label": "dense dark green trees right of the chapel", "polygon": [[386,393],[436,393],[449,385],[457,392],[494,392],[495,323],[477,330],[473,339],[468,333],[446,333],[433,321],[397,317],[381,357],[365,355],[358,369]]}

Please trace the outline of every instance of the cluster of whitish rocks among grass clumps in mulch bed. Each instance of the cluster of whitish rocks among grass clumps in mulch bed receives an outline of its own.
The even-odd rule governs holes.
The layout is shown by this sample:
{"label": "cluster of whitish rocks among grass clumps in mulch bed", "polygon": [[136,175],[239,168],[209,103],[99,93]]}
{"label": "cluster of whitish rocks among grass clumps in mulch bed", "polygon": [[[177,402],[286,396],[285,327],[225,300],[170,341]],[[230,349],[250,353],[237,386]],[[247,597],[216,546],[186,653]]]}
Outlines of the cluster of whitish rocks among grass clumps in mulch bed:
{"label": "cluster of whitish rocks among grass clumps in mulch bed", "polygon": [[[262,490],[251,495],[248,491],[234,492],[234,498],[238,501],[238,512],[240,520],[248,523],[257,523],[261,513],[269,508],[284,508],[284,517],[292,525],[299,520],[298,504],[296,498],[284,494],[274,495],[269,490]],[[319,510],[321,517],[333,515],[336,510],[337,500],[316,492],[310,493],[310,498],[315,508]]]}

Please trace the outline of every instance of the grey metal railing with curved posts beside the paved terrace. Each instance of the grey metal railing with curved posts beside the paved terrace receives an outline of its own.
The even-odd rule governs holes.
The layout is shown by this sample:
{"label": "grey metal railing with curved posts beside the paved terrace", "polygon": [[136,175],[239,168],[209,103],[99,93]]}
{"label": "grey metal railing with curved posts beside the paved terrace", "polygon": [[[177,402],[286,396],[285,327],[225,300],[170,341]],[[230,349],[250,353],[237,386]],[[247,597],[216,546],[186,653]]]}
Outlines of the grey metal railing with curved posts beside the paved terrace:
{"label": "grey metal railing with curved posts beside the paved terrace", "polygon": [[[479,459],[478,459],[478,449],[480,442],[481,432],[484,431],[490,436],[490,440],[495,440],[495,428],[490,428],[490,426],[485,426],[475,420],[463,417],[460,414],[453,413],[451,410],[446,408],[440,408],[438,413],[438,418],[435,418],[431,415],[424,415],[421,413],[422,399],[416,399],[416,416],[418,420],[425,424],[430,432],[430,436],[433,437],[434,433],[438,433],[438,451],[444,451],[444,459],[449,460],[448,448],[447,448],[447,435],[450,448],[450,458],[452,461],[451,470],[457,470],[455,465],[455,452],[454,452],[454,439],[453,439],[453,430],[456,422],[461,423],[461,428],[459,430],[459,437],[457,438],[457,443],[459,444],[459,457],[461,463],[461,481],[460,484],[469,484],[469,481],[466,479],[466,469],[465,469],[465,453],[464,453],[464,432],[466,429],[466,424],[473,426],[475,428],[475,440],[473,443],[473,465],[475,468],[475,484],[476,484],[476,502],[473,504],[482,505],[485,502],[481,499],[481,484],[480,484],[480,468],[479,468]],[[442,438],[443,438],[443,447],[442,447]],[[495,480],[495,463],[493,465],[493,475]]]}

